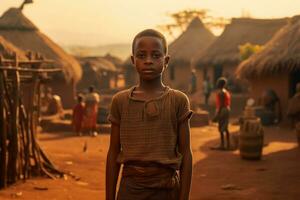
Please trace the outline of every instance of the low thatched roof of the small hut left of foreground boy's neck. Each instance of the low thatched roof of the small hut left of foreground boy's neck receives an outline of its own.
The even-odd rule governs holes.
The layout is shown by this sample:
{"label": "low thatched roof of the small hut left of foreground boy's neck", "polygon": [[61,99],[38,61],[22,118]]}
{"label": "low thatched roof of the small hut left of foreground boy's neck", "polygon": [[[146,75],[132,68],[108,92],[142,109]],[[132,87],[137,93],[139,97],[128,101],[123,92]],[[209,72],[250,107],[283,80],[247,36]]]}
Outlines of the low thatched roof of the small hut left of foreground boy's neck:
{"label": "low thatched roof of the small hut left of foreground boy's neck", "polygon": [[107,59],[104,59],[102,57],[79,57],[77,58],[81,65],[83,66],[83,71],[89,70],[85,69],[86,67],[89,67],[93,69],[95,72],[100,71],[108,71],[108,72],[117,72],[116,66],[108,61]]}

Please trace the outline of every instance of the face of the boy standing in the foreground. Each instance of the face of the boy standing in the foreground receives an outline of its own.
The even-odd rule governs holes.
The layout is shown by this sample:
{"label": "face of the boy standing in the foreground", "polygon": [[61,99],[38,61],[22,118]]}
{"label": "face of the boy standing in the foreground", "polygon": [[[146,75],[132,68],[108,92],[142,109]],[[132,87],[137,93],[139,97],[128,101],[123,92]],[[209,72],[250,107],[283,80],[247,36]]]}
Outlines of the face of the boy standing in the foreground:
{"label": "face of the boy standing in the foreground", "polygon": [[160,38],[144,36],[136,40],[131,60],[141,79],[153,80],[162,75],[169,56],[165,55]]}

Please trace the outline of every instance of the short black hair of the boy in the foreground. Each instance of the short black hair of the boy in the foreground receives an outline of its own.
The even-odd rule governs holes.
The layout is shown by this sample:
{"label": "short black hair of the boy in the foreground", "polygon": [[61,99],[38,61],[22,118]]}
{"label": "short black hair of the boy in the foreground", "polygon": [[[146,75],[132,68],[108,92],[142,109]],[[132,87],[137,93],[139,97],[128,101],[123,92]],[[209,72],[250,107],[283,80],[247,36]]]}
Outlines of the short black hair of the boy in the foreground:
{"label": "short black hair of the boy in the foreground", "polygon": [[157,30],[145,29],[145,30],[139,32],[134,37],[133,42],[132,42],[132,54],[134,54],[134,46],[135,46],[136,40],[141,38],[141,37],[156,37],[156,38],[161,39],[162,43],[163,43],[164,53],[165,54],[168,53],[168,45],[167,45],[167,40],[166,40],[165,36]]}

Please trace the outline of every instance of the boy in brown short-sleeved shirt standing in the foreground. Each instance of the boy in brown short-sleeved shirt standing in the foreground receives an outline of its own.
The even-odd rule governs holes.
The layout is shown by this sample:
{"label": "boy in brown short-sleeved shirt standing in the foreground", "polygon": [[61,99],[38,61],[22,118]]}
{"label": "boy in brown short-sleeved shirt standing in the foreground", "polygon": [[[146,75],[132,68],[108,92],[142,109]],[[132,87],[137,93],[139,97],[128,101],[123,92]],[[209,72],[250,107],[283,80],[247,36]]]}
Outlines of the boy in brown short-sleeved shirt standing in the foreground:
{"label": "boy in brown short-sleeved shirt standing in the foreground", "polygon": [[[185,94],[162,83],[169,62],[165,37],[152,29],[137,34],[132,63],[139,84],[113,97],[106,163],[106,199],[189,199],[192,153]],[[177,170],[179,170],[179,177]]]}

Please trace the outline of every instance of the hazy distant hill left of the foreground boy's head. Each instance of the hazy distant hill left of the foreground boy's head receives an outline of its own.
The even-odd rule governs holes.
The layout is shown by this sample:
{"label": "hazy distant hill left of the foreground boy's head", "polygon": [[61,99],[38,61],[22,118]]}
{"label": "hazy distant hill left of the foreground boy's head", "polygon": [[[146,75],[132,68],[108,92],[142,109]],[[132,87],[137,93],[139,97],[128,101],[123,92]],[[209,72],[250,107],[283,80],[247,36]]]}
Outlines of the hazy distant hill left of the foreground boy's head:
{"label": "hazy distant hill left of the foreground boy's head", "polygon": [[107,53],[125,60],[131,53],[131,44],[110,44],[101,46],[63,46],[75,56],[105,56]]}

